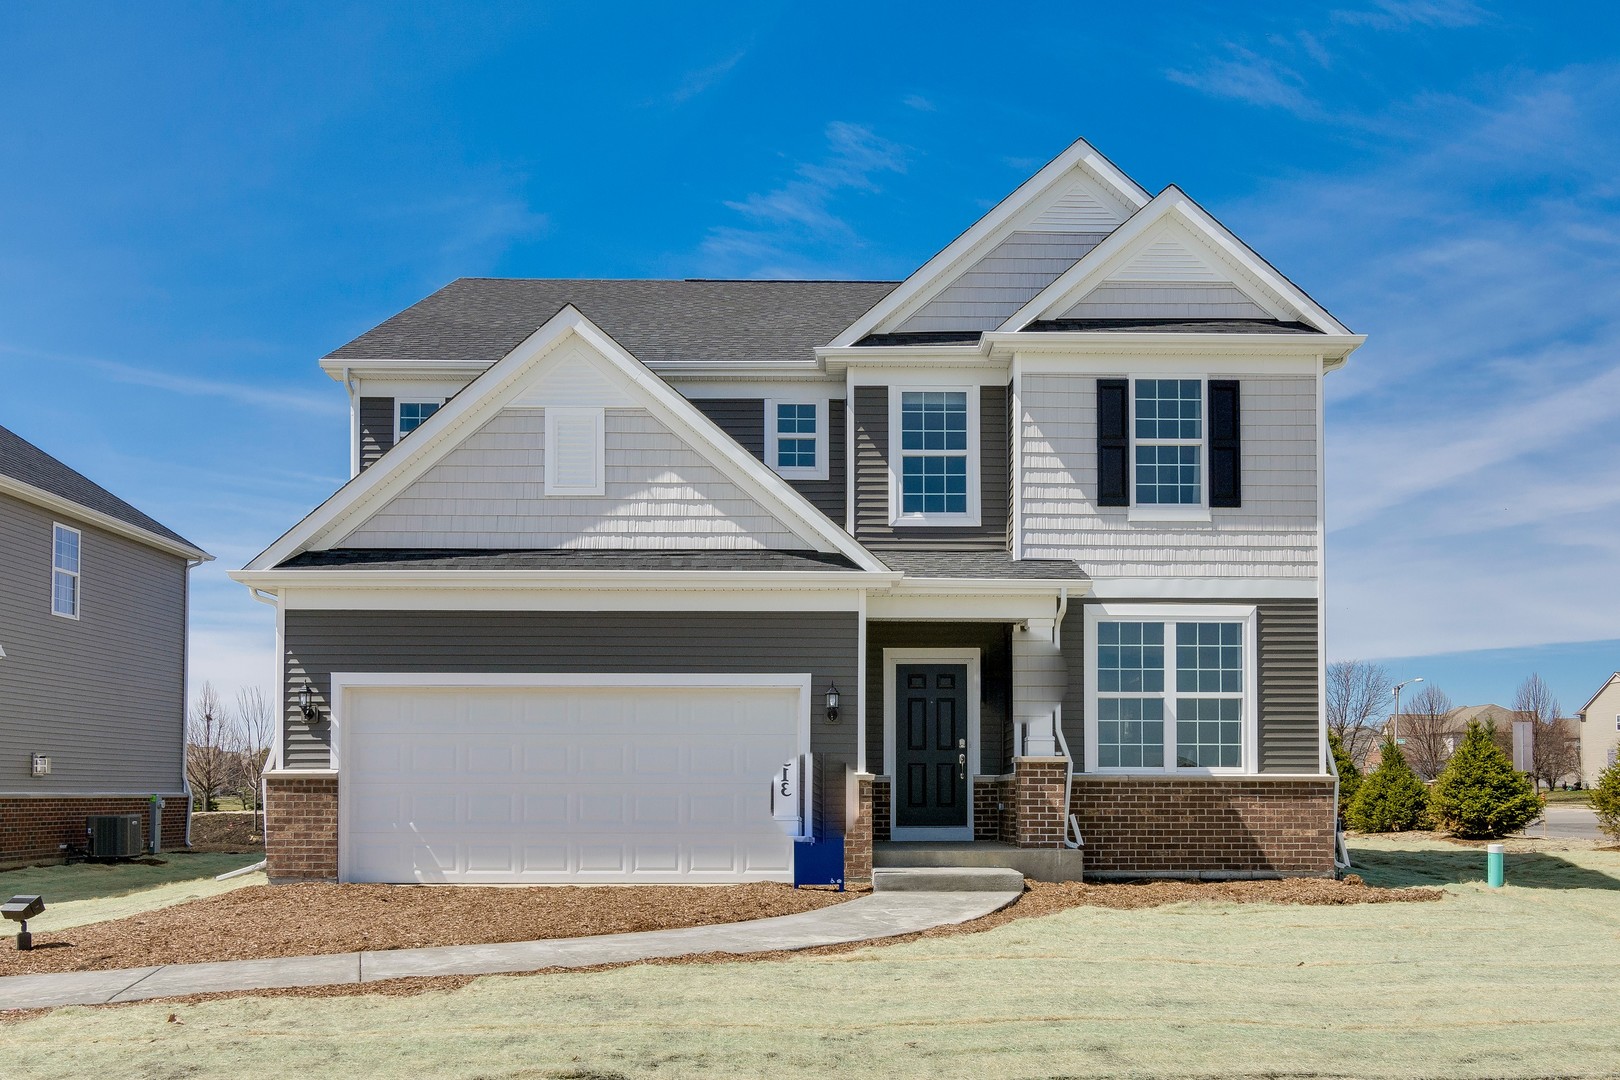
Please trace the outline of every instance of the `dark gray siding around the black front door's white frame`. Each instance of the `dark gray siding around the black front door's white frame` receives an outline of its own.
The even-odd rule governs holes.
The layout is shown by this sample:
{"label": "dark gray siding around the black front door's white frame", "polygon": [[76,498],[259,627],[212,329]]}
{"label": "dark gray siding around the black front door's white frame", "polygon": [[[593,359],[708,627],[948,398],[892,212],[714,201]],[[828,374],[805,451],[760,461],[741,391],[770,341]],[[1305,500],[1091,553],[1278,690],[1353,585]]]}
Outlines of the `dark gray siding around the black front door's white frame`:
{"label": "dark gray siding around the black front door's white frame", "polygon": [[868,622],[867,623],[867,767],[883,763],[883,649],[978,649],[978,772],[1000,776],[1013,767],[1013,640],[1006,623]]}

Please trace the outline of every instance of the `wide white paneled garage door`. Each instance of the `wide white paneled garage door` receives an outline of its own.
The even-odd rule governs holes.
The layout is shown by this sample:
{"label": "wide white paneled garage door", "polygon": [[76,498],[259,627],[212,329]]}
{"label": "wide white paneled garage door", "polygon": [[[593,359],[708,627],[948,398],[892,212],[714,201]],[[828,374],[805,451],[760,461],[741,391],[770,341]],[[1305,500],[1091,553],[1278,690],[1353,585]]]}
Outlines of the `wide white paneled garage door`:
{"label": "wide white paneled garage door", "polygon": [[345,687],[345,881],[791,881],[805,688]]}

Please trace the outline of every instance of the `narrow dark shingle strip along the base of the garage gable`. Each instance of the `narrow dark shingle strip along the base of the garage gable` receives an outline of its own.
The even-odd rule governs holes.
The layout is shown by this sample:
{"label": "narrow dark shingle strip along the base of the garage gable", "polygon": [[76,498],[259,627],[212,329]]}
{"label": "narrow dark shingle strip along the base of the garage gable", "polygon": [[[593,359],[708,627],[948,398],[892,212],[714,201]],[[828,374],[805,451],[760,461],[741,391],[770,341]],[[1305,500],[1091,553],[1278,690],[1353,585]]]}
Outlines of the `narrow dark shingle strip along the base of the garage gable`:
{"label": "narrow dark shingle strip along the base of the garage gable", "polygon": [[857,570],[815,551],[423,551],[334,547],[306,551],[288,570]]}

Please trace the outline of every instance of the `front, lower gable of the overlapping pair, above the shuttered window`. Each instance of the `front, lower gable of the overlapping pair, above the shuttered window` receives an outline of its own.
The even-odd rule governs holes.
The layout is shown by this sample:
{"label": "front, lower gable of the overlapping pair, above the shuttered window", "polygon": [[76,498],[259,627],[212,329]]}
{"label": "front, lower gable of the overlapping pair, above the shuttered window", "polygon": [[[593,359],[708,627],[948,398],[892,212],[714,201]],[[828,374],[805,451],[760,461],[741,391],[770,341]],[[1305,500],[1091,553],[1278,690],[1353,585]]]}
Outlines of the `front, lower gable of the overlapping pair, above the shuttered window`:
{"label": "front, lower gable of the overlapping pair, above the shuttered window", "polygon": [[1273,319],[1349,334],[1176,186],[1165,188],[998,329],[1076,319]]}

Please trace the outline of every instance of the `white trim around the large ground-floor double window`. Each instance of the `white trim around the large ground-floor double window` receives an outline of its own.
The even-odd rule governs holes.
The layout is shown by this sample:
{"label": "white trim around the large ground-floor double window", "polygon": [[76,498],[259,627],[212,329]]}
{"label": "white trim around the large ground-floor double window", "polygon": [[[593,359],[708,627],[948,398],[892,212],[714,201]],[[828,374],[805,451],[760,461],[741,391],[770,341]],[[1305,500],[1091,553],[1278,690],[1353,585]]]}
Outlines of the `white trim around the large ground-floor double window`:
{"label": "white trim around the large ground-floor double window", "polygon": [[[1085,771],[1102,776],[1256,776],[1260,771],[1259,619],[1252,604],[1087,604],[1085,606]],[[1097,623],[1243,622],[1243,764],[1236,769],[1176,767],[1174,635],[1165,633],[1165,766],[1103,769],[1097,764]]]}

